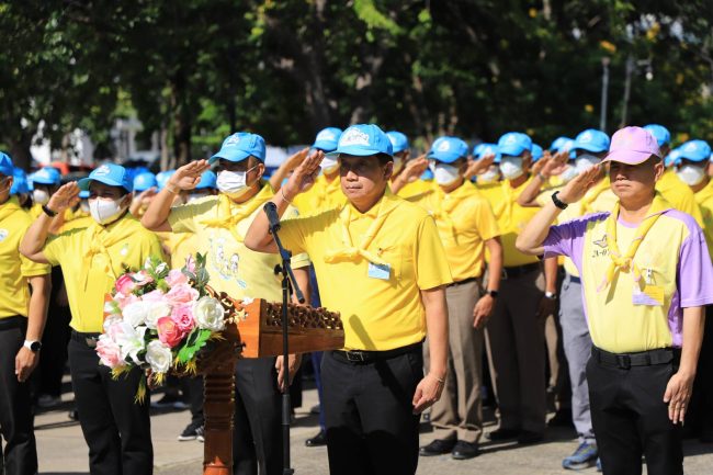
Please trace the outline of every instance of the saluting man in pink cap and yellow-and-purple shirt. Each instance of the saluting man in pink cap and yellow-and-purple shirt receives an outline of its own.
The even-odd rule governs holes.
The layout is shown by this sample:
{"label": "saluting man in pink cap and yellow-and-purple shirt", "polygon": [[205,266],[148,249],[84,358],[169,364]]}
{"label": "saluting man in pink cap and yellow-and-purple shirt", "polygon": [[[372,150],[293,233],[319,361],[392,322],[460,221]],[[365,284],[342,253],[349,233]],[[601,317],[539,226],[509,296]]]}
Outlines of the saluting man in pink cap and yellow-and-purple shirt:
{"label": "saluting man in pink cap and yellow-and-purple shirt", "polygon": [[587,366],[591,417],[604,474],[683,473],[683,422],[713,303],[713,265],[703,231],[655,190],[664,165],[640,127],[614,134],[606,160],[619,197],[607,213],[558,226],[592,168],[554,193],[518,238],[533,256],[567,256],[577,267],[593,348]]}

